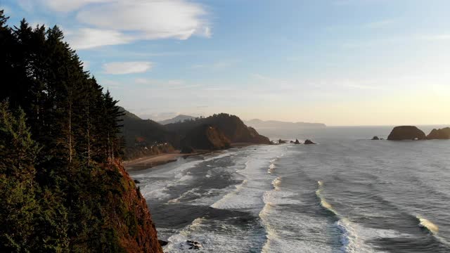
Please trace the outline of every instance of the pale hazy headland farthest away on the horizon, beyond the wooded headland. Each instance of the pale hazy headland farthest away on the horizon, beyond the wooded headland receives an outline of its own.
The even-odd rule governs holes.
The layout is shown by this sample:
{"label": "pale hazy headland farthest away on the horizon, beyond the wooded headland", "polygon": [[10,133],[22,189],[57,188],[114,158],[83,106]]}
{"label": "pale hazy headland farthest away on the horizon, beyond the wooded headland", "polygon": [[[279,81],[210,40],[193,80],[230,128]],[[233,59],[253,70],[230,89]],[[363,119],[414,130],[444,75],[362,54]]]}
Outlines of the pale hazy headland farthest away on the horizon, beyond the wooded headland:
{"label": "pale hazy headland farthest away on the horizon, beyond the wooded headland", "polygon": [[281,122],[276,120],[261,120],[251,119],[244,121],[248,126],[252,126],[255,129],[316,129],[326,127],[326,124],[322,123],[307,123],[307,122]]}

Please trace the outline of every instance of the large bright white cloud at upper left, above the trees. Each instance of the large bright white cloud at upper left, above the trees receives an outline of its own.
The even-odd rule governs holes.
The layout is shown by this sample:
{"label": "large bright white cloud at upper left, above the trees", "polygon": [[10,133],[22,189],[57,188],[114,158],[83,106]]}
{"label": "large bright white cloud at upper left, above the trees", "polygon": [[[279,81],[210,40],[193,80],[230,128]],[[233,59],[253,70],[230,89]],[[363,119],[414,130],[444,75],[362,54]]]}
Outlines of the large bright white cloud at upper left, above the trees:
{"label": "large bright white cloud at upper left, above the trees", "polygon": [[137,40],[212,36],[205,6],[188,0],[19,0],[18,3],[29,12],[44,6],[75,17],[77,24],[73,27],[77,32],[70,34],[68,41],[79,50]]}

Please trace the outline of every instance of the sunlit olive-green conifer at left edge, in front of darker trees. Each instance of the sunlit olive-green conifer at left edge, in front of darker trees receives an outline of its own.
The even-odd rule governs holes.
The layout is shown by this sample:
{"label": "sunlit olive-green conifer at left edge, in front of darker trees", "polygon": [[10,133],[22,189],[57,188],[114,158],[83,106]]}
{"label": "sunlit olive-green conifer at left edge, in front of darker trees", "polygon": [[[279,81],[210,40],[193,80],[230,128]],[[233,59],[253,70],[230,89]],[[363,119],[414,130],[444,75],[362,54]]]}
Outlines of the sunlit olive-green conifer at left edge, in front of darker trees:
{"label": "sunlit olive-green conifer at left edge, in front of darker trees", "polygon": [[30,250],[33,238],[37,143],[25,125],[25,114],[0,103],[0,251]]}

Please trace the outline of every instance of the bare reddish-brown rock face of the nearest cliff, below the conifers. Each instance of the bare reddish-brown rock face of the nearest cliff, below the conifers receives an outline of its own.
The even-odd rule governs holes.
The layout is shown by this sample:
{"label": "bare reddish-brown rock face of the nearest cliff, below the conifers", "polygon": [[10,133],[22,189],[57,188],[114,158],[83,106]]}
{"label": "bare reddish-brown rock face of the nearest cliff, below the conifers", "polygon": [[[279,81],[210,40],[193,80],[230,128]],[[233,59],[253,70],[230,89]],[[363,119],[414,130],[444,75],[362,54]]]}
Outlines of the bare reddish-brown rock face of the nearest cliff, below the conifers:
{"label": "bare reddish-brown rock face of the nearest cliff, below the conifers", "polygon": [[162,253],[146,199],[124,167],[119,163],[115,165],[122,174],[121,185],[117,187],[122,195],[110,200],[108,216],[115,226],[120,246],[127,252]]}

